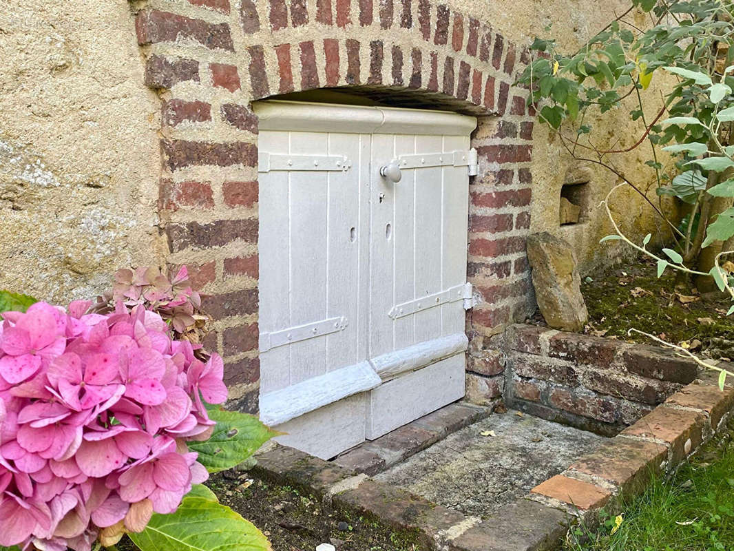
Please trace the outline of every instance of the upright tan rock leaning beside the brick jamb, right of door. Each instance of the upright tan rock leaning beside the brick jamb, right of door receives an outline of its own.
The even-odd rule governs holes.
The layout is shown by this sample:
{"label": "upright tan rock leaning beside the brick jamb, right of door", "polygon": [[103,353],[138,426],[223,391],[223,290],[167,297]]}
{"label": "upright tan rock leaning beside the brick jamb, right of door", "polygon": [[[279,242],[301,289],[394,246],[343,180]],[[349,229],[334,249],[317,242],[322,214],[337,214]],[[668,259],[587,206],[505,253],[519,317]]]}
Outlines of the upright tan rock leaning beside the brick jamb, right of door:
{"label": "upright tan rock leaning beside the brick jamb, right of door", "polygon": [[568,242],[544,231],[528,237],[528,261],[540,313],[554,329],[581,331],[589,312]]}

